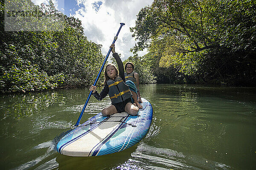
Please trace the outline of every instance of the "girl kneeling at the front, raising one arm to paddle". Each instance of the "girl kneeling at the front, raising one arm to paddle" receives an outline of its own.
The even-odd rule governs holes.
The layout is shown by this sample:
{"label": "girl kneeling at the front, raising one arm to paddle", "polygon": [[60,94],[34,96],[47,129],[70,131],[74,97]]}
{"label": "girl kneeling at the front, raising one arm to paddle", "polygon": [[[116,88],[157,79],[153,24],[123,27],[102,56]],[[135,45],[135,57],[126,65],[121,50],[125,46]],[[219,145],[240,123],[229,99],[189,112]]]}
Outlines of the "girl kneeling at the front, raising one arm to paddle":
{"label": "girl kneeling at the front, raising one arm to paddle", "polygon": [[113,53],[113,57],[116,59],[120,76],[116,66],[113,64],[108,64],[105,68],[105,86],[102,91],[98,93],[96,91],[96,86],[93,85],[91,85],[90,91],[93,91],[93,96],[98,100],[102,100],[109,95],[112,103],[110,106],[107,106],[102,110],[103,116],[109,116],[113,113],[121,113],[124,111],[133,116],[137,115],[139,108],[131,103],[132,94],[128,85],[125,84],[125,74],[122,60],[115,52],[115,45],[112,44],[110,48],[112,48],[111,51]]}

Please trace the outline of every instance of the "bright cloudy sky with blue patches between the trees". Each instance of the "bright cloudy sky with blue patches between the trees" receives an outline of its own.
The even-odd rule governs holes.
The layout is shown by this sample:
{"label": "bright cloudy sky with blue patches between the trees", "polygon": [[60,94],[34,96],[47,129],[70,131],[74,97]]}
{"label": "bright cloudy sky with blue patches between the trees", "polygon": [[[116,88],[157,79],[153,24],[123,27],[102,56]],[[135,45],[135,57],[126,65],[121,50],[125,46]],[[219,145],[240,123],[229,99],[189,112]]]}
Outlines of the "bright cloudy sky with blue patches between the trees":
{"label": "bright cloudy sky with blue patches between the trees", "polygon": [[[153,0],[52,0],[56,8],[68,17],[79,18],[88,40],[102,44],[102,54],[106,55],[113,42],[120,23],[125,23],[115,42],[115,50],[121,59],[133,56],[130,49],[135,45],[130,27],[135,26],[140,9],[152,4]],[[35,4],[48,0],[32,0]],[[147,50],[139,51],[143,56]]]}

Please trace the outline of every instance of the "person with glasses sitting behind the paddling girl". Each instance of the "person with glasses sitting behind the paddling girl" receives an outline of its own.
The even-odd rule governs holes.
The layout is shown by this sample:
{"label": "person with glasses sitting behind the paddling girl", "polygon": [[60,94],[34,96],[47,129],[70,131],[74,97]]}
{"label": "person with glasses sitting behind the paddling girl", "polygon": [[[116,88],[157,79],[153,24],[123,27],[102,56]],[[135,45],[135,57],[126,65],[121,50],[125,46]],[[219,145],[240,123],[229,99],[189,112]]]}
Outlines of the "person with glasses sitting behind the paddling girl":
{"label": "person with glasses sitting behind the paddling girl", "polygon": [[[125,71],[125,81],[131,80],[132,82],[134,82],[137,88],[136,95],[138,96],[138,102],[142,102],[139,89],[139,74],[134,72],[134,65],[132,62],[127,62],[125,64]],[[142,106],[139,103],[136,104],[139,108],[142,108]]]}

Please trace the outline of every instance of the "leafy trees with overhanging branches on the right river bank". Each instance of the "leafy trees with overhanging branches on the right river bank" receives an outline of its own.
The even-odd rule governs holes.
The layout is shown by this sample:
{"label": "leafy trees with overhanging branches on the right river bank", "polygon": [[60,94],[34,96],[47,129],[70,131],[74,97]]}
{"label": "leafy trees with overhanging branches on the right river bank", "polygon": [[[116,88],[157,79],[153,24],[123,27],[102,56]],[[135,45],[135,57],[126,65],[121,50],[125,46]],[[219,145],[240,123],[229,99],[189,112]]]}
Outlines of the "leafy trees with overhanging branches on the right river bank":
{"label": "leafy trees with overhanging branches on the right river bank", "polygon": [[154,0],[131,31],[133,51],[148,48],[157,58],[157,77],[166,68],[170,82],[255,86],[254,0]]}

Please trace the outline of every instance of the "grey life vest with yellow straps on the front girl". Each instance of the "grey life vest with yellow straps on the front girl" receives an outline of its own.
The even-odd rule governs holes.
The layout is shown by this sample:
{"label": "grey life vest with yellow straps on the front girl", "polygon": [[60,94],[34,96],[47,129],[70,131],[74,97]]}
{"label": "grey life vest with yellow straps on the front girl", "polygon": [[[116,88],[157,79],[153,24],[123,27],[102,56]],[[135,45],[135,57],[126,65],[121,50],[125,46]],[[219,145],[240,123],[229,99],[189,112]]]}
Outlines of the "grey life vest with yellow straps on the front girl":
{"label": "grey life vest with yellow straps on the front girl", "polygon": [[116,79],[109,79],[107,81],[109,92],[108,95],[112,103],[123,102],[132,96],[128,85],[122,80],[121,77],[116,77]]}

